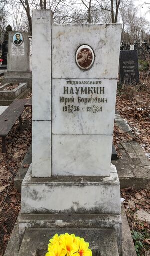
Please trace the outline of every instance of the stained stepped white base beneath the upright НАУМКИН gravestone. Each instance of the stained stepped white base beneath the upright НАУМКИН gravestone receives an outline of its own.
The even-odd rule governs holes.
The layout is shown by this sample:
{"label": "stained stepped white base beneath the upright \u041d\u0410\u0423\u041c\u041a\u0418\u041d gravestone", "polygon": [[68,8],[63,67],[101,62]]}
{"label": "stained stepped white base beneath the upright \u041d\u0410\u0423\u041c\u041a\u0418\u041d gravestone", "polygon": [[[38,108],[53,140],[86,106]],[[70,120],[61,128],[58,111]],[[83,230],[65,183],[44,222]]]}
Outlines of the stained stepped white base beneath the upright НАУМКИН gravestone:
{"label": "stained stepped white base beneath the upright \u041d\u0410\u0423\u041c\u041a\u0418\u041d gravestone", "polygon": [[[112,228],[121,255],[120,183],[115,166],[110,176],[33,178],[22,182],[20,239],[25,228]],[[65,232],[66,232],[65,231]]]}

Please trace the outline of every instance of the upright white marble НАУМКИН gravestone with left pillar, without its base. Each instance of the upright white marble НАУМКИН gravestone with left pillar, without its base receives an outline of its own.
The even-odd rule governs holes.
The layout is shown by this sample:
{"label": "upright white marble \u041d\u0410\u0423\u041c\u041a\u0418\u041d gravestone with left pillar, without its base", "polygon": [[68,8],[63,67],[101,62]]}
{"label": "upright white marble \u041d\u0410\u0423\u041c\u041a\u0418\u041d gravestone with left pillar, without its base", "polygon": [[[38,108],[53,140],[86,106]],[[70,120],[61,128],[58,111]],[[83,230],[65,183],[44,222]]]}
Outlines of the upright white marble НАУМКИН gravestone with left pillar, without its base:
{"label": "upright white marble \u041d\u0410\u0423\u041c\u041a\u0418\u041d gravestone with left pillar, without its base", "polygon": [[[109,176],[121,25],[52,24],[51,35],[49,15],[42,26],[34,15],[32,175]],[[84,44],[89,70],[75,61]]]}

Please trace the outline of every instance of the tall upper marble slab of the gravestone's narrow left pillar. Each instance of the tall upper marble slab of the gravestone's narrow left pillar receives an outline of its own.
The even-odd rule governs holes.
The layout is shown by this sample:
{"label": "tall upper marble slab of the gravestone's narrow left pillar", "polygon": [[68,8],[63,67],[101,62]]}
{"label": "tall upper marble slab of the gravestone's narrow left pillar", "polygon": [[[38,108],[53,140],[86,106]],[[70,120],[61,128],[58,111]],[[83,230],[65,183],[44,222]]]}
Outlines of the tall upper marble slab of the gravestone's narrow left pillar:
{"label": "tall upper marble slab of the gravestone's narrow left pillar", "polygon": [[51,16],[33,10],[33,120],[51,120]]}

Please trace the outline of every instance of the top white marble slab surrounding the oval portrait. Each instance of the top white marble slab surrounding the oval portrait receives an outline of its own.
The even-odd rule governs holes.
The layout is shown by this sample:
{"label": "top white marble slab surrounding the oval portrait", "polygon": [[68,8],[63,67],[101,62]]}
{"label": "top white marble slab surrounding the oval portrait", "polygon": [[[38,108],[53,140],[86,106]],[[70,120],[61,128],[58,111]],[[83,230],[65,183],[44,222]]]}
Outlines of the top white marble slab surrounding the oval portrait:
{"label": "top white marble slab surrounding the oval portrait", "polygon": [[[52,24],[52,77],[117,79],[121,24]],[[91,69],[81,70],[75,53],[89,45],[95,61]]]}

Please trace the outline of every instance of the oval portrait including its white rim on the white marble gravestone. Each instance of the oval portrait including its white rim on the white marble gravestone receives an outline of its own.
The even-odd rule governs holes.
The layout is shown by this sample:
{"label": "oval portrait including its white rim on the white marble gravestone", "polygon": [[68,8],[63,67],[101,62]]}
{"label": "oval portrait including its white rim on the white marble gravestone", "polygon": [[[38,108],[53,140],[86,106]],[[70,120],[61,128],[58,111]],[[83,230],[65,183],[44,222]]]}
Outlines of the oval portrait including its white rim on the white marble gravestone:
{"label": "oval portrait including its white rim on the white marble gravestone", "polygon": [[89,45],[81,45],[77,51],[75,60],[79,68],[88,70],[94,63],[94,52]]}

